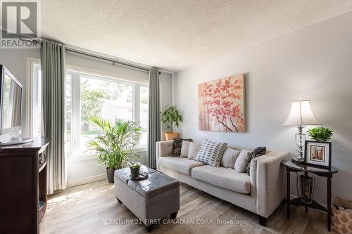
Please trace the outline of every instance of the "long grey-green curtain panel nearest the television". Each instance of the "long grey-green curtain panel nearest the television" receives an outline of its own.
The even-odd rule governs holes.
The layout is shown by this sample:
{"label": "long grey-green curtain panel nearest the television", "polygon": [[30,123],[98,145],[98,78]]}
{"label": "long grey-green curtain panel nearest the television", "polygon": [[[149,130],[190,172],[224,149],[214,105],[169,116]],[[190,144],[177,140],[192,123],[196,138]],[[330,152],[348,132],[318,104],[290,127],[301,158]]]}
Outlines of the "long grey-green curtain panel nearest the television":
{"label": "long grey-green curtain panel nearest the television", "polygon": [[65,47],[43,41],[41,48],[42,105],[44,137],[49,138],[47,150],[48,193],[66,188],[65,155]]}

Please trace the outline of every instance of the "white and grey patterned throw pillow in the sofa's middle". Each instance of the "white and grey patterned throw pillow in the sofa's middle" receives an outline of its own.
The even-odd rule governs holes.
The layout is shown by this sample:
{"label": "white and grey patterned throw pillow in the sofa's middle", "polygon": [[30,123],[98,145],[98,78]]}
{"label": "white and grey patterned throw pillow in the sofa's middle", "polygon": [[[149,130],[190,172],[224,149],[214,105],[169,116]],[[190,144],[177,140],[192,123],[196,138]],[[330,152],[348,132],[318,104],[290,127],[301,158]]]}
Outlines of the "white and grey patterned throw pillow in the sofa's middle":
{"label": "white and grey patterned throw pillow in the sofa's middle", "polygon": [[226,147],[227,143],[208,141],[206,139],[194,160],[208,164],[211,167],[219,167],[222,154]]}

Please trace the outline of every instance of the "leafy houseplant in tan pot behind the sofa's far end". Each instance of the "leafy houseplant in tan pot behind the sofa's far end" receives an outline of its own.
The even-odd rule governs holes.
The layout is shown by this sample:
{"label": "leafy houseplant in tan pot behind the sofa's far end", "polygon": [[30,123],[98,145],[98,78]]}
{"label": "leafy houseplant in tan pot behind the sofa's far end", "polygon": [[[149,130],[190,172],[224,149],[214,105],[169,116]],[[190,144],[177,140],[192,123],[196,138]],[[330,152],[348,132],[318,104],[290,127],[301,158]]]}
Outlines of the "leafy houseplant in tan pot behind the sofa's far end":
{"label": "leafy houseplant in tan pot behind the sofa's far end", "polygon": [[170,108],[161,112],[161,121],[166,124],[170,131],[165,133],[166,141],[177,138],[178,134],[173,131],[173,126],[180,126],[180,122],[182,122],[180,112],[174,106],[170,106]]}

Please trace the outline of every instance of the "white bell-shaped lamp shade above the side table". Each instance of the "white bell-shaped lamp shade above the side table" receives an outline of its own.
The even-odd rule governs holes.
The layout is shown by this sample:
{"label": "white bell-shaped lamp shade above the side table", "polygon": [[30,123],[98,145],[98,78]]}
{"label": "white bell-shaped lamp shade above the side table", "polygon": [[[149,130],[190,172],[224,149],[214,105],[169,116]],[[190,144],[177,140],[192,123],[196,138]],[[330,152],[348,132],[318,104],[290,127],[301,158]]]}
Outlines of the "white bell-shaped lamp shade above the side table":
{"label": "white bell-shaped lamp shade above the side table", "polygon": [[300,100],[291,104],[289,117],[282,125],[302,126],[318,124],[322,123],[315,117],[312,108],[310,108],[309,100]]}

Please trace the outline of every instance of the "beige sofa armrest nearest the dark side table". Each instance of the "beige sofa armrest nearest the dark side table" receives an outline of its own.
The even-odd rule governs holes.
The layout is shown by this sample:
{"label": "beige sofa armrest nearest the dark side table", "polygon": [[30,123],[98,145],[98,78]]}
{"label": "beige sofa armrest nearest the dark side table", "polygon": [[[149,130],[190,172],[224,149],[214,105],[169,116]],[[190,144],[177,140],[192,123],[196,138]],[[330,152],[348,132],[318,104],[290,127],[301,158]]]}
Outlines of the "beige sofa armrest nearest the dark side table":
{"label": "beige sofa armrest nearest the dark side table", "polygon": [[257,214],[260,216],[268,218],[286,196],[286,181],[281,161],[288,159],[288,152],[278,151],[268,152],[253,159],[256,164]]}

